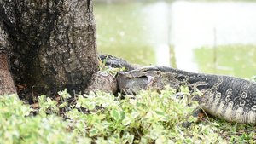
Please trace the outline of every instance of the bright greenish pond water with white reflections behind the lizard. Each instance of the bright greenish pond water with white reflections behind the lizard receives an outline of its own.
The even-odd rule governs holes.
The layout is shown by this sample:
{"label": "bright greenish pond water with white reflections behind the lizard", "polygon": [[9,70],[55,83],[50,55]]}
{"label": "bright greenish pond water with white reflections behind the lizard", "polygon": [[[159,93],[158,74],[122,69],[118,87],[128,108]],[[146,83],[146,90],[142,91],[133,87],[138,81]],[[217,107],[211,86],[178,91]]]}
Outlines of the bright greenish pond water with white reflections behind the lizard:
{"label": "bright greenish pond water with white reflections behind the lizard", "polygon": [[141,66],[256,75],[256,3],[94,3],[98,52]]}

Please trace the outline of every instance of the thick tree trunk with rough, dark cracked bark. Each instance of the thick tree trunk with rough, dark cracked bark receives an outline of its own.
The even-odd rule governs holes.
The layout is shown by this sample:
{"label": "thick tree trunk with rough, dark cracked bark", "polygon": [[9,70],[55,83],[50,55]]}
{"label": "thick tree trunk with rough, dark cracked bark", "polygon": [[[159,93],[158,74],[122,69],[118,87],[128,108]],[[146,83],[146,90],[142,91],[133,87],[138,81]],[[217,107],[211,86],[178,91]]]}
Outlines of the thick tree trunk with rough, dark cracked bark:
{"label": "thick tree trunk with rough, dark cracked bark", "polygon": [[0,13],[0,53],[15,83],[48,95],[84,91],[97,70],[92,0],[0,0]]}

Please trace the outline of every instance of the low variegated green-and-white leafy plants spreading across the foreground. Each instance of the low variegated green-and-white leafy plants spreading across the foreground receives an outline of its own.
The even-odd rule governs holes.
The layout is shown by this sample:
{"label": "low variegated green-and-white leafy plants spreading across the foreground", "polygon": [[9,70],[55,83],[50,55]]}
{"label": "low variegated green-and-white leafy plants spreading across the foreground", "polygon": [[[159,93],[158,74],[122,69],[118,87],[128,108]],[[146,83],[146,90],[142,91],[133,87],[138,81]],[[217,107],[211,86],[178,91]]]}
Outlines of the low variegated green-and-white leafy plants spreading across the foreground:
{"label": "low variegated green-and-white leafy plants spreading across the foreground", "polygon": [[[66,89],[59,95],[63,102],[59,107],[56,101],[39,96],[38,110],[22,104],[15,95],[0,96],[0,143],[255,142],[253,125],[229,124],[216,118],[199,122],[189,117],[199,106],[191,98],[201,94],[195,91],[190,95],[184,87],[179,93],[166,88],[160,94],[141,91],[125,98],[90,92],[76,95],[73,106],[67,105],[70,95]],[[65,109],[67,120],[58,116],[60,107]],[[187,122],[191,125],[183,127]]]}

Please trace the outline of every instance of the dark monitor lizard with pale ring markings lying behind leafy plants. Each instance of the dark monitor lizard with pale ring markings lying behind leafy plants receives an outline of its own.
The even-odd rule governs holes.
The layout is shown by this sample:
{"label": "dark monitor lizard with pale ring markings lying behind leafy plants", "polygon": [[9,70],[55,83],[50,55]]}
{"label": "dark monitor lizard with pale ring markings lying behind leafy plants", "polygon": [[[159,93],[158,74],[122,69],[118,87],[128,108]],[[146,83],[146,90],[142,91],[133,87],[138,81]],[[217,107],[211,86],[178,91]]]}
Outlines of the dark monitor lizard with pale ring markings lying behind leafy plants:
{"label": "dark monitor lizard with pale ring markings lying behind leafy plants", "polygon": [[119,89],[137,94],[141,89],[173,89],[188,86],[199,89],[201,107],[207,113],[226,121],[256,124],[256,83],[224,75],[195,73],[166,66],[142,67],[131,72],[119,72]]}

